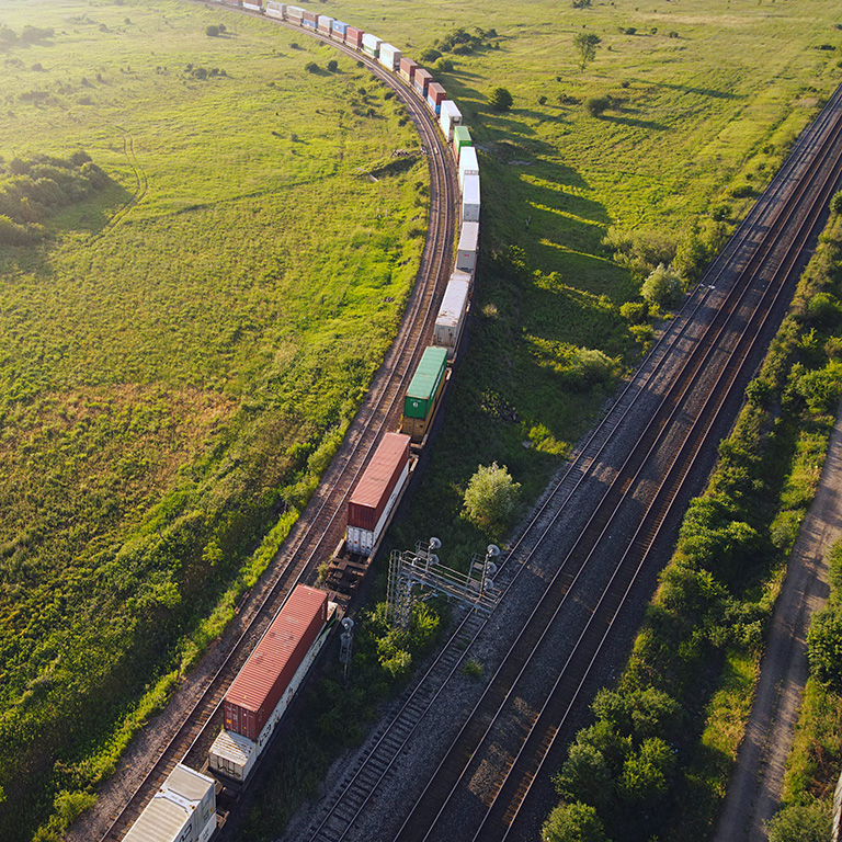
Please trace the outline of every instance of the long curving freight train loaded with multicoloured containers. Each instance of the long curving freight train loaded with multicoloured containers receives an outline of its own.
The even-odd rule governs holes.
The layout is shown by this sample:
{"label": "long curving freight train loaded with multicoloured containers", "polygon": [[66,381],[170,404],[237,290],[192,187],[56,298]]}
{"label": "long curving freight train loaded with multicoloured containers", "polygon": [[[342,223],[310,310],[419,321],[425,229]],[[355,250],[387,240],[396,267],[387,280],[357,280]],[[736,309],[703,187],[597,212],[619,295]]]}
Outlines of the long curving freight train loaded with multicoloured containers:
{"label": "long curving freight train loaded with multicoloured containers", "polygon": [[423,353],[403,397],[399,432],[386,433],[354,486],[345,535],[327,564],[326,590],[298,584],[275,615],[223,701],[223,729],[207,772],[179,764],[124,838],[125,842],[208,842],[216,831],[216,793],[243,785],[289,703],[337,625],[330,593],[350,595],[367,572],[426,443],[470,305],[479,251],[479,163],[456,103],[432,75],[372,33],[276,0],[216,0],[259,12],[344,44],[398,76],[439,117],[458,167],[460,213],[455,270],[442,298],[433,344]]}

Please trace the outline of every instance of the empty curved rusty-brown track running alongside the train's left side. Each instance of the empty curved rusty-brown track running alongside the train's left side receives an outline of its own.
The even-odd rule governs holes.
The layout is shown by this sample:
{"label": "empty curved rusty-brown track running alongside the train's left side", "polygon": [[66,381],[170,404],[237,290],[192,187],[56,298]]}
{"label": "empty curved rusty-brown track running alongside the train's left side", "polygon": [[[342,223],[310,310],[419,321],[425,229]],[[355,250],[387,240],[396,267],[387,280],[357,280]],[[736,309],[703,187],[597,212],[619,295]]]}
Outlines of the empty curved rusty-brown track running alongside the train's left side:
{"label": "empty curved rusty-brown track running alongside the train's left side", "polygon": [[[287,25],[281,21],[262,20]],[[320,37],[316,33],[312,36]],[[348,497],[383,432],[397,425],[400,399],[432,335],[437,306],[450,276],[456,223],[455,168],[439,136],[435,120],[421,100],[394,75],[353,50],[325,41],[354,59],[365,60],[368,69],[403,101],[418,128],[429,157],[431,180],[429,231],[421,265],[398,337],[375,374],[368,395],[319,489],[260,584],[241,605],[231,628],[210,653],[214,662],[204,685],[197,689],[190,708],[179,717],[174,732],[163,736],[152,769],[128,803],[107,817],[111,822],[107,829],[99,831],[103,842],[123,837],[177,763],[183,761],[195,767],[204,765],[207,749],[221,724],[226,690],[292,589],[299,582],[311,582],[318,565],[329,558],[341,539],[344,530],[341,515]]]}

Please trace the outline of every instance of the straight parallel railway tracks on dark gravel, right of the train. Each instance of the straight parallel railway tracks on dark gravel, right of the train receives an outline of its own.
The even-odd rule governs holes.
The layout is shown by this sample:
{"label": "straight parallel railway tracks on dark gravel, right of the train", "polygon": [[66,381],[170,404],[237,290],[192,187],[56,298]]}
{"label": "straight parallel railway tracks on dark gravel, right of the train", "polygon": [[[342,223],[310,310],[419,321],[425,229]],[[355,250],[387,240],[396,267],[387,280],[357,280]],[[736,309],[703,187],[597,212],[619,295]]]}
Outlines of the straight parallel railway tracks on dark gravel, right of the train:
{"label": "straight parallel railway tracks on dark gravel, right of the train", "polygon": [[[730,423],[760,345],[783,317],[805,246],[815,241],[842,171],[841,104],[842,90],[799,137],[787,163],[510,551],[498,578],[500,584],[508,581],[501,607],[536,559],[553,571],[553,581],[444,760],[429,773],[430,784],[398,839],[450,839],[454,823],[465,839],[525,838],[527,831],[512,830],[530,786],[573,704],[588,695],[591,667],[650,559],[699,447],[712,429]],[[576,536],[573,546],[569,536]],[[585,590],[589,577],[600,581],[594,592]],[[560,618],[577,612],[576,633],[567,624],[559,639]],[[436,660],[352,765],[308,839],[365,834],[363,813],[398,755],[412,751],[413,735],[435,730],[430,722],[420,729],[420,719],[467,656],[465,634],[457,630],[448,644],[454,653]],[[478,635],[471,629],[473,640]],[[420,715],[419,699],[425,705]],[[394,804],[400,797],[383,800]]]}

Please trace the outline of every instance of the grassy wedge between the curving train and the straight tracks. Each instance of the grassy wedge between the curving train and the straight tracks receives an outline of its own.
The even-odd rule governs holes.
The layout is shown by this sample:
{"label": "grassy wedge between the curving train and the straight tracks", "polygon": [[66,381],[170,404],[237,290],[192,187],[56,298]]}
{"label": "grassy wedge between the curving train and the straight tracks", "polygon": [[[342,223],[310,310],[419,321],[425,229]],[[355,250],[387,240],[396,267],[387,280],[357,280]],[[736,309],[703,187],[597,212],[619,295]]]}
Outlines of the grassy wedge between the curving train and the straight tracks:
{"label": "grassy wedge between the curving train and the straight tracks", "polygon": [[[417,59],[459,26],[496,30],[481,38],[490,47],[444,50],[454,69],[436,72],[480,146],[483,258],[470,345],[445,422],[412,505],[386,542],[387,550],[408,548],[435,534],[443,560],[459,566],[501,537],[459,517],[477,464],[505,463],[526,500],[544,488],[615,375],[639,357],[636,337],[645,342],[647,326],[621,307],[636,296],[646,261],[678,247],[685,266],[699,264],[842,79],[839,53],[819,49],[842,43],[838,10],[819,2],[805,16],[803,5],[787,2],[736,13],[727,2],[684,1],[657,12],[625,2],[582,10],[331,2],[326,10]],[[572,49],[582,26],[603,39],[584,71]],[[498,84],[514,95],[508,114],[485,104]],[[604,93],[625,102],[590,117],[584,101]],[[611,226],[637,235],[622,261],[602,244]],[[605,360],[589,368],[581,349]],[[253,838],[278,832],[337,747],[356,738],[361,719],[388,692],[389,670],[375,682],[372,664],[394,659],[392,647],[379,652],[371,640],[360,648],[362,669],[348,693],[333,682],[314,692],[312,721],[297,728],[257,798]]]}

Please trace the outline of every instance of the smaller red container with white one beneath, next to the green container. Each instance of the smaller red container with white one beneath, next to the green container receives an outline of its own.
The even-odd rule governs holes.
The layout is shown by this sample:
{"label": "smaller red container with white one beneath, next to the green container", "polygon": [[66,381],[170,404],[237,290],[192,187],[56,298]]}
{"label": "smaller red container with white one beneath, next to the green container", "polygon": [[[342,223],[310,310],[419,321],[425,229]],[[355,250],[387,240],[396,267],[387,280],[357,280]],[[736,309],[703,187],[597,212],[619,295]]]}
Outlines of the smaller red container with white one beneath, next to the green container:
{"label": "smaller red container with white one beneath, next to the green container", "polygon": [[345,548],[371,555],[409,476],[408,435],[386,433],[348,502]]}

